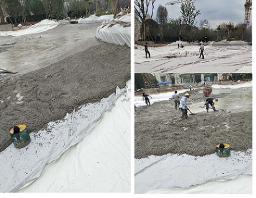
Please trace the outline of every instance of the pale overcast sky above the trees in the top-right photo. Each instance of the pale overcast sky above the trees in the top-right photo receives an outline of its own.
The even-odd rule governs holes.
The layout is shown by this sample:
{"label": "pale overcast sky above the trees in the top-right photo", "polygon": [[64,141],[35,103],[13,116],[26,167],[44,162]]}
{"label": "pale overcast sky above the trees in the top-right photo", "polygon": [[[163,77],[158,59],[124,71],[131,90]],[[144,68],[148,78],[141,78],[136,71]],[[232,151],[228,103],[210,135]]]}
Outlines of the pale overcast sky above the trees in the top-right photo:
{"label": "pale overcast sky above the trees in the top-right photo", "polygon": [[[181,3],[165,5],[166,2],[172,1],[174,0],[156,0],[153,19],[156,19],[157,8],[160,4],[167,8],[169,18],[178,18],[181,15]],[[216,25],[221,22],[232,21],[234,25],[244,22],[245,0],[194,0],[192,2],[195,3],[196,9],[200,9],[201,12],[195,19],[197,21],[196,26],[199,26],[200,21],[203,19],[208,19],[210,28],[216,28]]]}

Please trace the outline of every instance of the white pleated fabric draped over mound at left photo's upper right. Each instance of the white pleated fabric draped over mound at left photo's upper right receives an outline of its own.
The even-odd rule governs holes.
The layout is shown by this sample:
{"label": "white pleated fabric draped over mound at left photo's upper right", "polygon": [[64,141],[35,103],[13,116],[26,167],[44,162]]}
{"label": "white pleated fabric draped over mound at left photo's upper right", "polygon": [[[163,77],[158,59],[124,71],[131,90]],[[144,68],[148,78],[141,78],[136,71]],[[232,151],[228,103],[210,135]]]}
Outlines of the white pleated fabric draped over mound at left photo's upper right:
{"label": "white pleated fabric draped over mound at left photo's upper right", "polygon": [[[126,22],[129,21],[129,18],[131,22],[131,14],[125,14],[117,19],[110,19],[109,22]],[[104,42],[131,47],[131,26],[122,27],[120,23],[111,27],[109,25],[110,23],[100,25],[96,30],[96,37]]]}

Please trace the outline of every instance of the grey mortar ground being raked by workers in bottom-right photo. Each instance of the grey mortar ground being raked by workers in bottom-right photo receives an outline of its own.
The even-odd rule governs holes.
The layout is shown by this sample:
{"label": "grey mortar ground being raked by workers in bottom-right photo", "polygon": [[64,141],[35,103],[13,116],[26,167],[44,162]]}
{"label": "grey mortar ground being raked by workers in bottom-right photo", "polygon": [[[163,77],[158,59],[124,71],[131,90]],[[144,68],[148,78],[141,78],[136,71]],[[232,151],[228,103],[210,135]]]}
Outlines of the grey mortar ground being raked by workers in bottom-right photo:
{"label": "grey mortar ground being raked by workers in bottom-right photo", "polygon": [[[216,144],[228,142],[232,150],[244,150],[252,147],[252,110],[251,87],[225,90],[217,93],[220,100],[229,102],[231,112],[209,109],[209,112],[197,112],[186,120],[181,119],[182,112],[176,110],[174,101],[155,102],[149,106],[139,106],[135,111],[135,158],[167,153],[202,156],[215,152]],[[221,91],[220,91],[221,92]],[[247,97],[245,100],[239,98]],[[238,97],[237,97],[238,95]],[[216,97],[215,96],[215,97]],[[233,99],[236,98],[234,104]],[[204,98],[205,99],[205,98]],[[200,90],[192,90],[188,105],[201,103],[204,99]],[[237,103],[239,102],[239,103]],[[199,105],[199,104],[197,104]],[[244,108],[243,108],[244,106]],[[193,112],[193,107],[190,108]]]}

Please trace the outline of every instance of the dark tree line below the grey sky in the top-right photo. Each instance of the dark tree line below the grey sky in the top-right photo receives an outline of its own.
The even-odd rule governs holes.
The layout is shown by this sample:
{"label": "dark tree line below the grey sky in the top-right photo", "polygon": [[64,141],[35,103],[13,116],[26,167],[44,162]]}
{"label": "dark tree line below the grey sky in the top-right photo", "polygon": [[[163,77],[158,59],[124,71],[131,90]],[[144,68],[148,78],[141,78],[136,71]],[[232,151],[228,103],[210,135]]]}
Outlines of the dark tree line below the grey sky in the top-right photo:
{"label": "dark tree line below the grey sky in the top-right photo", "polygon": [[[145,0],[140,0],[140,3],[145,4]],[[152,1],[152,3],[154,2]],[[141,36],[142,39],[152,40],[154,42],[172,42],[176,40],[188,42],[198,40],[206,42],[209,40],[220,41],[223,39],[229,41],[251,41],[251,26],[247,27],[244,23],[235,25],[233,22],[228,21],[218,24],[215,28],[211,28],[207,19],[201,20],[199,25],[196,26],[197,21],[195,19],[200,14],[200,10],[196,9],[194,2],[182,3],[180,9],[181,15],[178,18],[169,19],[166,7],[159,5],[156,20],[152,18],[153,14],[151,14],[151,17],[145,17],[145,20],[142,21],[145,24],[145,27],[142,27],[145,29],[145,35]]]}

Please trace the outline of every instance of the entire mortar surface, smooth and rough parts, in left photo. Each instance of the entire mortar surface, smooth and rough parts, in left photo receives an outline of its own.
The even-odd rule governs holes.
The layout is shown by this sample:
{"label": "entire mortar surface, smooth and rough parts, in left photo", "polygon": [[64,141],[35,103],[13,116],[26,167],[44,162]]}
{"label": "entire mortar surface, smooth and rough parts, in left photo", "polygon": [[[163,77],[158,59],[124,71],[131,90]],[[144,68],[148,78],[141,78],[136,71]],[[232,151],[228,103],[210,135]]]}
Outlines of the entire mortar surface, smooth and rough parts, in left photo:
{"label": "entire mortar surface, smooth and rough parts, in left photo", "polygon": [[4,39],[17,41],[0,57],[5,69],[19,72],[0,75],[0,151],[12,143],[9,128],[14,124],[26,123],[37,132],[80,105],[107,97],[131,78],[129,47],[96,39],[100,24],[74,25],[1,37],[2,44]]}

